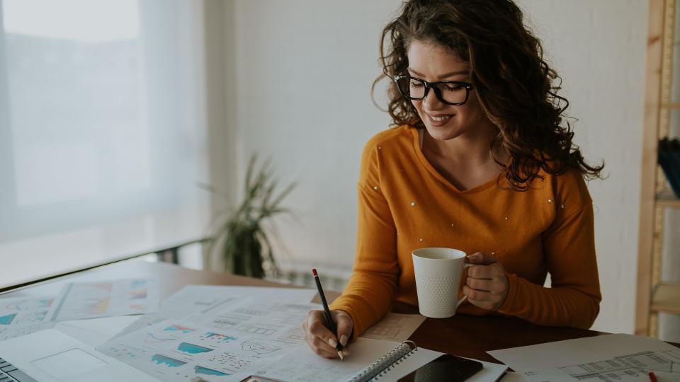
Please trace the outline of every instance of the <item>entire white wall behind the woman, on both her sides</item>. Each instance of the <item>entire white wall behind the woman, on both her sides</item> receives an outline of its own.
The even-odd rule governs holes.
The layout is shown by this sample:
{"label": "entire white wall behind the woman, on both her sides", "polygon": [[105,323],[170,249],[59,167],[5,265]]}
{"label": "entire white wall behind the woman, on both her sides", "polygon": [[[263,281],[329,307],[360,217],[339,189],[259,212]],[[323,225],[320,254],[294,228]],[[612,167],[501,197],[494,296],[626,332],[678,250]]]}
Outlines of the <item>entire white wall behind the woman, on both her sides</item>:
{"label": "entire white wall behind the woman, on both her sides", "polygon": [[[388,115],[369,97],[378,35],[399,0],[235,0],[237,157],[271,156],[297,220],[278,232],[300,267],[348,270],[365,141]],[[608,179],[589,184],[604,295],[596,330],[632,332],[647,1],[521,0],[564,79],[576,141]],[[240,174],[242,175],[242,174]]]}

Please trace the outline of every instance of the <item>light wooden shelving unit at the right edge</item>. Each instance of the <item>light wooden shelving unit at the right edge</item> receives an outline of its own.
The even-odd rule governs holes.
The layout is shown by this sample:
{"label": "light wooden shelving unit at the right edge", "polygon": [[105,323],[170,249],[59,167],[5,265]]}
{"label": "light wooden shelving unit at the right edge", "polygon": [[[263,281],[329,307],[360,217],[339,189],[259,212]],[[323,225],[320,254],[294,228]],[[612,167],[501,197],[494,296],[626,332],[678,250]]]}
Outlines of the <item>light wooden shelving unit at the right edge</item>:
{"label": "light wooden shelving unit at the right edge", "polygon": [[650,0],[647,27],[635,334],[652,337],[658,335],[658,313],[680,314],[680,283],[661,277],[664,214],[680,208],[680,199],[669,191],[657,165],[659,139],[669,136],[670,112],[680,110],[680,102],[671,100],[676,5],[676,0]]}

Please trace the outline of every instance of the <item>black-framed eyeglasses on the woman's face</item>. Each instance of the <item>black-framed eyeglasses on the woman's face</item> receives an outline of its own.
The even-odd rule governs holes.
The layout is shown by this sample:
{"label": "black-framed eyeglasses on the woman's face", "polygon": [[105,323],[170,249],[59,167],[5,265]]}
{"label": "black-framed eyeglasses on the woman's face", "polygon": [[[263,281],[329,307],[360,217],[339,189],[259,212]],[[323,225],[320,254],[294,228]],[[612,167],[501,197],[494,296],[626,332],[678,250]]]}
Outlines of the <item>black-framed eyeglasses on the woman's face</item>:
{"label": "black-framed eyeglasses on the woman's face", "polygon": [[462,81],[428,82],[412,76],[395,76],[394,80],[399,92],[409,100],[424,100],[433,89],[437,99],[447,105],[463,105],[472,90],[472,83]]}

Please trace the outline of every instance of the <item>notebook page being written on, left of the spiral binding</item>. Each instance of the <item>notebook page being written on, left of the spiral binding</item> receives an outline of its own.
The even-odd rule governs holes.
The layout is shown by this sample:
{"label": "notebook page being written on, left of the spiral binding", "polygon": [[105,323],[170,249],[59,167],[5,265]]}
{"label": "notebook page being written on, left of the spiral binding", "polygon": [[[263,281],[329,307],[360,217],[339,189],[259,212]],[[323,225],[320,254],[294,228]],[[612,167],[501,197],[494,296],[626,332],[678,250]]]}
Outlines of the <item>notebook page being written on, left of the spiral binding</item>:
{"label": "notebook page being written on, left of the spiral binding", "polygon": [[350,354],[344,361],[319,357],[310,347],[302,345],[263,367],[256,375],[281,381],[346,381],[399,345],[392,341],[359,337],[348,345]]}

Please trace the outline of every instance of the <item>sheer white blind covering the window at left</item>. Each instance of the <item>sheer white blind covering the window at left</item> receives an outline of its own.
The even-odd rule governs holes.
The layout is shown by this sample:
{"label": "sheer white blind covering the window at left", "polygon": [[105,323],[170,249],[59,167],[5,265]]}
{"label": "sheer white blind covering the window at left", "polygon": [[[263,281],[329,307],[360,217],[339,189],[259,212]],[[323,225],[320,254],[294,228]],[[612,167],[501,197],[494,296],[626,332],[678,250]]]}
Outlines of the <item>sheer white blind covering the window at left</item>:
{"label": "sheer white blind covering the window at left", "polygon": [[200,2],[0,4],[0,287],[202,236]]}

